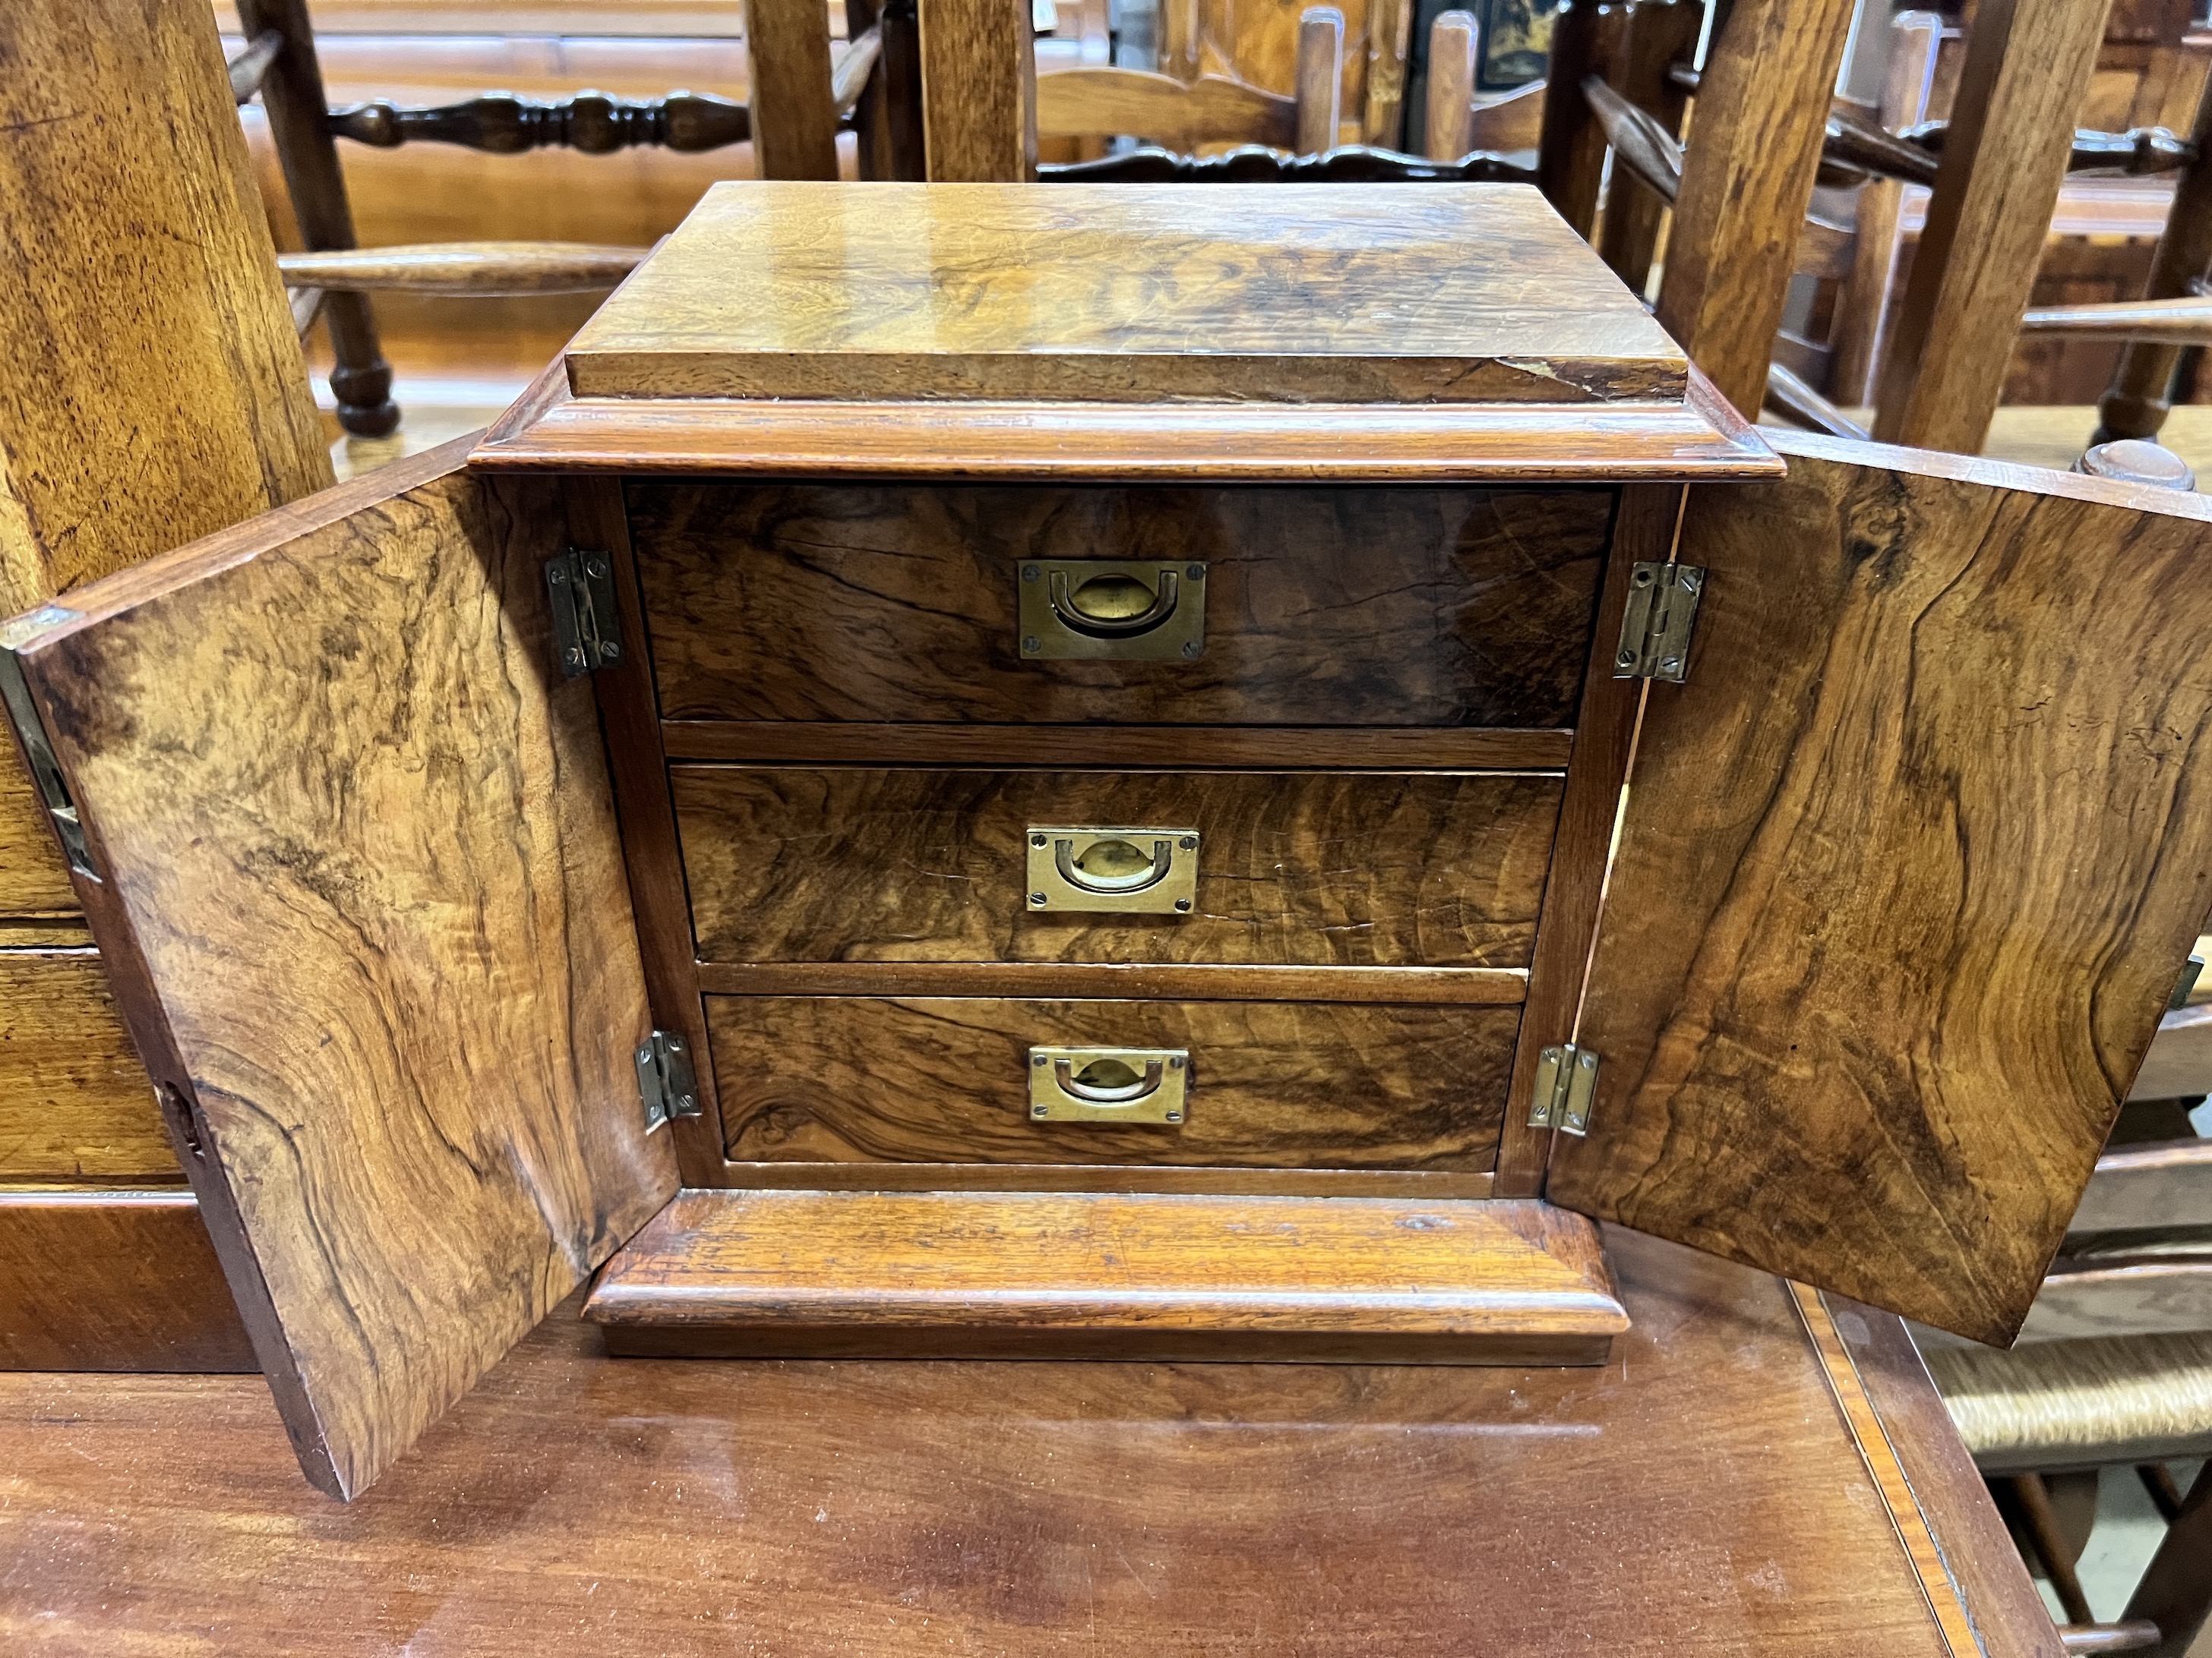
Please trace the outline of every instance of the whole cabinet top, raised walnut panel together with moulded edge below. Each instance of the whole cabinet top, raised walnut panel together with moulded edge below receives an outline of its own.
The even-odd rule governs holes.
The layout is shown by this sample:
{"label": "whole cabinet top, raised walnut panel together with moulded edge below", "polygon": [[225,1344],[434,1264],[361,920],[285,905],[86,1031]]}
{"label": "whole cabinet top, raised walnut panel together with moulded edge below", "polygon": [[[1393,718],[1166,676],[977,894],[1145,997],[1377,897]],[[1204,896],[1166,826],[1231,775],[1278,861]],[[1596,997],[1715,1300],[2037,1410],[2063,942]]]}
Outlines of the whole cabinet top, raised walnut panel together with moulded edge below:
{"label": "whole cabinet top, raised walnut panel together with moulded edge below", "polygon": [[1528,186],[732,181],[487,466],[1692,478],[1778,462]]}

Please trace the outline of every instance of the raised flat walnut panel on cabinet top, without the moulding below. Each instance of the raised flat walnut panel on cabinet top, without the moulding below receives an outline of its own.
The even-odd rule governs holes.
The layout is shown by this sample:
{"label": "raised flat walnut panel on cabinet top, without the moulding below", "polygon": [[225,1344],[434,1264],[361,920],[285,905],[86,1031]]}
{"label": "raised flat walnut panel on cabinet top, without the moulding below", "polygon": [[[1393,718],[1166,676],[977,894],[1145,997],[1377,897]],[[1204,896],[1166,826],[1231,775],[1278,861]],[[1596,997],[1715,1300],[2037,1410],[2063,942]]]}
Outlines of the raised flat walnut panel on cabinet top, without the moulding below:
{"label": "raised flat walnut panel on cabinet top, without the moulding below", "polygon": [[1681,405],[1526,186],[717,183],[577,398]]}

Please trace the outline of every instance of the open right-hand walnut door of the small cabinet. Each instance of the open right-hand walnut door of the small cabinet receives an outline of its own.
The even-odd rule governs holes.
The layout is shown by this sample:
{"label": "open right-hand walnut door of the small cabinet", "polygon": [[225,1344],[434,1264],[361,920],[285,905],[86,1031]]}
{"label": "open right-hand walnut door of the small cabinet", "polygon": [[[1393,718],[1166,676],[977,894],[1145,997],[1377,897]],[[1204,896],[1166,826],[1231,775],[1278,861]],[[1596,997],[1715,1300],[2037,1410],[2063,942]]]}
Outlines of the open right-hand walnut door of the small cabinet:
{"label": "open right-hand walnut door of the small cabinet", "polygon": [[2004,1344],[2212,900],[2212,511],[1770,436],[1690,491],[1546,1194]]}

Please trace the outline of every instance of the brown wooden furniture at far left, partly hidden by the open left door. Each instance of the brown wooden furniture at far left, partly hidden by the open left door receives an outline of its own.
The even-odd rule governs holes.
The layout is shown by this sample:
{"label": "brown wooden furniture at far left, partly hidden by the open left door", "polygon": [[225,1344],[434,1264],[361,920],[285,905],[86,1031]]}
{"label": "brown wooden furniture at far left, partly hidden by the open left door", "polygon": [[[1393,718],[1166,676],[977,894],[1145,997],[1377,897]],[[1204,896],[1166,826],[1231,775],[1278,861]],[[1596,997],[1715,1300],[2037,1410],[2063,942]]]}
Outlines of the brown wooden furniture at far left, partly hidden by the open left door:
{"label": "brown wooden furniture at far left, partly hidden by the open left door", "polygon": [[[330,458],[204,7],[11,7],[0,595],[312,495]],[[100,122],[71,119],[97,108]],[[254,1368],[31,776],[0,767],[0,1366]]]}

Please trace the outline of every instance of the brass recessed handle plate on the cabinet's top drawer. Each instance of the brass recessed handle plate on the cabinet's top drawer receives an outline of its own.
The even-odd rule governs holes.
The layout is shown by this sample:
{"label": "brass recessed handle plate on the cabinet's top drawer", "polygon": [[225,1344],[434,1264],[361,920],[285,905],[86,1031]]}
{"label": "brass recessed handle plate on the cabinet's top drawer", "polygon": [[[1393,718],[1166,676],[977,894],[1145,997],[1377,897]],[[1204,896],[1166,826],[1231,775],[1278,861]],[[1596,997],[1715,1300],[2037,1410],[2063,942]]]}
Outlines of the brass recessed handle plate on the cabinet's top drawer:
{"label": "brass recessed handle plate on the cabinet's top drawer", "polygon": [[1024,559],[1024,661],[1197,661],[1206,566],[1150,559]]}

